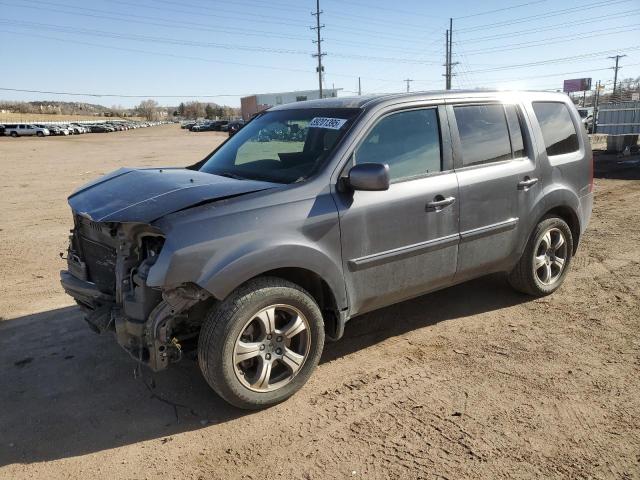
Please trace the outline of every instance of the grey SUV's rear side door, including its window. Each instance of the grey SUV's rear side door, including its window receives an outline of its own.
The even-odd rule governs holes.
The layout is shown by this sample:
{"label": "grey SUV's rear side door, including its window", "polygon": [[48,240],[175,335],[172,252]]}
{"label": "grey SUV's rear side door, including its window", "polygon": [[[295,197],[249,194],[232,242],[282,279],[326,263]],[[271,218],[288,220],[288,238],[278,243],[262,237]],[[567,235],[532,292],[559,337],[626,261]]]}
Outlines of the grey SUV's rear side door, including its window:
{"label": "grey SUV's rear side door, including its window", "polygon": [[524,220],[535,207],[541,184],[520,105],[454,104],[447,112],[460,184],[456,281],[462,281],[509,268],[515,261],[520,230],[528,228]]}

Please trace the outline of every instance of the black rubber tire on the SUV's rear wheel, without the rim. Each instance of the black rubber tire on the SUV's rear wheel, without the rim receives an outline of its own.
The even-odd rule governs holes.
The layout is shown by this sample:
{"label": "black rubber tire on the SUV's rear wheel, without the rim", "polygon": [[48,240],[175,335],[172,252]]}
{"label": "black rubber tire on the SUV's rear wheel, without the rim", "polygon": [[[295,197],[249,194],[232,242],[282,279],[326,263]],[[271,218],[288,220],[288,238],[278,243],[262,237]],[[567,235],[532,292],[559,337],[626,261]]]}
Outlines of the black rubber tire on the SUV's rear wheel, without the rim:
{"label": "black rubber tire on the SUV's rear wheel, without the rim", "polygon": [[[541,239],[545,235],[545,233],[549,231],[561,232],[564,236],[566,247],[563,256],[563,268],[559,271],[557,277],[553,278],[553,281],[545,283],[539,278],[539,275],[536,273],[535,262],[536,257],[541,253],[539,251]],[[555,256],[553,258],[555,258]],[[531,237],[529,237],[529,241],[527,242],[527,246],[525,247],[524,252],[520,257],[520,260],[518,261],[514,269],[509,273],[507,278],[511,286],[519,292],[526,293],[535,297],[550,295],[558,288],[560,288],[560,285],[562,285],[562,283],[564,282],[564,279],[567,276],[567,272],[569,271],[569,267],[571,266],[572,258],[573,236],[571,234],[569,225],[567,225],[567,223],[559,217],[547,216],[544,217],[533,230],[533,233],[531,234]],[[555,262],[553,263],[555,265]],[[543,266],[541,268],[544,270],[545,267]]]}

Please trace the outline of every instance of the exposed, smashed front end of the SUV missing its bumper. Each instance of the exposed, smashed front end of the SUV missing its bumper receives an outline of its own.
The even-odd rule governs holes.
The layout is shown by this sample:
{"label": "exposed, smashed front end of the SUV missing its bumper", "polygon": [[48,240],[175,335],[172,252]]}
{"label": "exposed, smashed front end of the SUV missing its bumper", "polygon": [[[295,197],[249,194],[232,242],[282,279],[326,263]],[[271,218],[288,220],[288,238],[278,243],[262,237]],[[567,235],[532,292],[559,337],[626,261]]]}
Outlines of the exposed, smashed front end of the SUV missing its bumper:
{"label": "exposed, smashed front end of the SUV missing its bumper", "polygon": [[195,284],[147,285],[164,241],[148,224],[74,214],[68,270],[60,273],[91,328],[115,332],[132,357],[155,371],[195,350],[204,313],[215,301]]}

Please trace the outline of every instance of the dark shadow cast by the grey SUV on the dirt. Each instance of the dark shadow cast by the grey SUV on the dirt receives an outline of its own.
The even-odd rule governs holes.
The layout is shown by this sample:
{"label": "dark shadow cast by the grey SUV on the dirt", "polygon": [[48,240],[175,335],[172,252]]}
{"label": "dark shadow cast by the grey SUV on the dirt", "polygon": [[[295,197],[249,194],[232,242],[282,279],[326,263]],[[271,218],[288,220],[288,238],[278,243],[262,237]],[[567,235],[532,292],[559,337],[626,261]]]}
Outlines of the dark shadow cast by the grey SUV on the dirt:
{"label": "dark shadow cast by the grey SUV on the dirt", "polygon": [[[528,300],[490,276],[348,323],[322,362],[435,323]],[[0,466],[115,448],[234,420],[247,413],[210,390],[191,360],[143,379],[112,335],[68,307],[0,322]],[[322,366],[316,375],[322,375]]]}

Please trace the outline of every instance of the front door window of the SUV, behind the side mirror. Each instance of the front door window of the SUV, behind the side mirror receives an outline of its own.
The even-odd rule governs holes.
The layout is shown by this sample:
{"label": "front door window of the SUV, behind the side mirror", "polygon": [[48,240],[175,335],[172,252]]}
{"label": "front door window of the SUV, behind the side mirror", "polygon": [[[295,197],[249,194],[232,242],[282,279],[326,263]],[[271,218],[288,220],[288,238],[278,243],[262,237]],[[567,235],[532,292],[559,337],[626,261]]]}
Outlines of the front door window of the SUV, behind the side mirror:
{"label": "front door window of the SUV, behind the side mirror", "polygon": [[441,171],[440,128],[435,108],[384,117],[354,154],[355,163],[386,163],[391,181]]}

